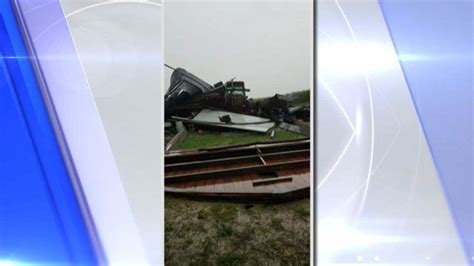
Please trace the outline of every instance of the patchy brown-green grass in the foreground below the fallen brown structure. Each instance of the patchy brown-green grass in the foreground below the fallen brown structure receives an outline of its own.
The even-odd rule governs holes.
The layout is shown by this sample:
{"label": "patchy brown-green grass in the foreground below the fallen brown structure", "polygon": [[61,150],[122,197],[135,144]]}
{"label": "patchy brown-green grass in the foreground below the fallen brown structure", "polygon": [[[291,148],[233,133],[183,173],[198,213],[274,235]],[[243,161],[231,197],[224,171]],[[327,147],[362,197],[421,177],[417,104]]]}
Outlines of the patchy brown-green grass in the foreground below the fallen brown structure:
{"label": "patchy brown-green grass in the foreground below the fallen brown structure", "polygon": [[166,265],[309,265],[310,203],[165,201]]}

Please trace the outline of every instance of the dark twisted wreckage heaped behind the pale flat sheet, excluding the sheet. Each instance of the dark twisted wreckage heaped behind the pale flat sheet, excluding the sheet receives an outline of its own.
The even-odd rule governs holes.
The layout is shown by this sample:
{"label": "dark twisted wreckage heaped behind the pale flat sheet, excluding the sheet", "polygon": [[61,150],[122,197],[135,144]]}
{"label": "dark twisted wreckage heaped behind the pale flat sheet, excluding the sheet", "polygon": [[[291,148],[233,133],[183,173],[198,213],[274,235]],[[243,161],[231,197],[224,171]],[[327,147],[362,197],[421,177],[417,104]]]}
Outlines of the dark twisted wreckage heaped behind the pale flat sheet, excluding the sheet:
{"label": "dark twisted wreckage heaped behind the pale flat sheet, excluding the sheet", "polygon": [[[262,99],[248,99],[243,81],[231,79],[210,85],[183,68],[172,68],[170,86],[165,94],[165,116],[190,117],[203,109],[225,110],[294,123],[309,121],[309,106],[292,107],[288,95],[275,94]],[[294,98],[294,97],[293,97]]]}

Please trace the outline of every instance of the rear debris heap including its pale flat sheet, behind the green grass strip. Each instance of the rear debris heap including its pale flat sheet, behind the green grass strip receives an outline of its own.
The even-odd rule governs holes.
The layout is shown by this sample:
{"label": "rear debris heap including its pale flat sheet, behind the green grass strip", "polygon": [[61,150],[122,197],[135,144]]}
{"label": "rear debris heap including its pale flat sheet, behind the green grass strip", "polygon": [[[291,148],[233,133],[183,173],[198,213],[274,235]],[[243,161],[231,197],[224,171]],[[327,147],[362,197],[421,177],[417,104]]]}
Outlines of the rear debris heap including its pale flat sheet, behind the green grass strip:
{"label": "rear debris heap including its pale flat sheet, behind the green grass strip", "polygon": [[280,128],[300,134],[309,132],[309,105],[292,106],[294,95],[248,99],[250,90],[243,81],[231,79],[210,85],[183,68],[171,69],[170,87],[165,94],[167,121],[258,133],[283,124]]}

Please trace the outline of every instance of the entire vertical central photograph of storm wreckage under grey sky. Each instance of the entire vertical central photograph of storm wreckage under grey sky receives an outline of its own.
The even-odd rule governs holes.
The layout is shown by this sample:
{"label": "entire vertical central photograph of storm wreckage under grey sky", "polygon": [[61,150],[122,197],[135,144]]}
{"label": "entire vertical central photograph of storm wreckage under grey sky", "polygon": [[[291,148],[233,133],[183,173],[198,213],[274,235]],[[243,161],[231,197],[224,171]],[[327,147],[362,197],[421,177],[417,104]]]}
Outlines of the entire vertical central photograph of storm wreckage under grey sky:
{"label": "entire vertical central photograph of storm wreckage under grey sky", "polygon": [[312,2],[164,17],[166,265],[308,265]]}

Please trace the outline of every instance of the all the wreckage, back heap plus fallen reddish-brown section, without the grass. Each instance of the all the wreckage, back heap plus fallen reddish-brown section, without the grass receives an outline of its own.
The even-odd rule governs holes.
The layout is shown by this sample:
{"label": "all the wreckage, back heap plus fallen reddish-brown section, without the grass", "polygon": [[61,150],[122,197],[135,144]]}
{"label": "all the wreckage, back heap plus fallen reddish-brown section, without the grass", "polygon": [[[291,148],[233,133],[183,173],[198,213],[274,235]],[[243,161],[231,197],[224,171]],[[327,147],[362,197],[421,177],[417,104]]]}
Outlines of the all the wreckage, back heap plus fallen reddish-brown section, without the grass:
{"label": "all the wreckage, back heap plus fallen reddish-brown section, without the grass", "polygon": [[[165,132],[169,133],[165,133],[167,194],[246,203],[309,196],[309,91],[249,99],[250,90],[243,81],[231,79],[210,85],[183,68],[173,70],[165,95]],[[195,136],[202,139],[207,128],[219,136],[224,131],[234,132],[226,132],[228,135],[218,142],[218,147],[203,148],[212,140],[202,144],[195,138],[197,149],[178,148]],[[233,137],[248,135],[240,131],[259,136],[253,134],[251,143],[247,140],[243,144],[225,144]],[[297,133],[293,134],[295,139],[278,141],[276,134],[291,135],[289,131]],[[255,140],[261,136],[270,142]]]}

